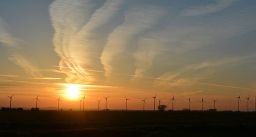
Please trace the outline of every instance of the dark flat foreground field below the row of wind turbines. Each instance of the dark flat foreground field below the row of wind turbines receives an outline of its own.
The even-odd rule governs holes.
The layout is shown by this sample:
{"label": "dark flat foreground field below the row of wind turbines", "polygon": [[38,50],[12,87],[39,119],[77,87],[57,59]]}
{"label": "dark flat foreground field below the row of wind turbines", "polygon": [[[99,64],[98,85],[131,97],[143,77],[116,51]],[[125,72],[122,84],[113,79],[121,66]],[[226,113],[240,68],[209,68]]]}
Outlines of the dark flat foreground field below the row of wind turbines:
{"label": "dark flat foreground field below the row of wind turbines", "polygon": [[0,136],[245,136],[256,113],[0,111]]}

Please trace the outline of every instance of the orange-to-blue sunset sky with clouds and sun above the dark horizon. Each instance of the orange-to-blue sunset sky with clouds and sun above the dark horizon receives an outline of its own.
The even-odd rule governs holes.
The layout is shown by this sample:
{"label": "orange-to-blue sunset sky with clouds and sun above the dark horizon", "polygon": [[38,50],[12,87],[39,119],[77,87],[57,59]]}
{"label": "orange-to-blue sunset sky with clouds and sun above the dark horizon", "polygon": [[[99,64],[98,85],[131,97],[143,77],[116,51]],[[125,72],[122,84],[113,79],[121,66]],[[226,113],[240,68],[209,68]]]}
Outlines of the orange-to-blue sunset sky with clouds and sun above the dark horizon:
{"label": "orange-to-blue sunset sky with clouds and sun above the dark horizon", "polygon": [[3,0],[0,106],[254,110],[256,2]]}

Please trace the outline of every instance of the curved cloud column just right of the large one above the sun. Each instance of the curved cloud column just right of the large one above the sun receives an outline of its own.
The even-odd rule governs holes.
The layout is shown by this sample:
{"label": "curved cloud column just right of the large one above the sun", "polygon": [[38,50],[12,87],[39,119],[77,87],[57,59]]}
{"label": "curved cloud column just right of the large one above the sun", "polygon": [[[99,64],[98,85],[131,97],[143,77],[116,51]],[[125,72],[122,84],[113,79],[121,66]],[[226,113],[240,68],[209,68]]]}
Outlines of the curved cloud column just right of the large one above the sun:
{"label": "curved cloud column just right of the large one above the sun", "polygon": [[[131,65],[124,63],[133,58],[132,51],[136,38],[157,24],[164,9],[157,6],[132,7],[124,14],[124,22],[109,36],[101,62],[108,80],[115,79],[112,73],[133,74]],[[135,44],[135,45],[134,45]],[[119,68],[118,71],[114,70]]]}

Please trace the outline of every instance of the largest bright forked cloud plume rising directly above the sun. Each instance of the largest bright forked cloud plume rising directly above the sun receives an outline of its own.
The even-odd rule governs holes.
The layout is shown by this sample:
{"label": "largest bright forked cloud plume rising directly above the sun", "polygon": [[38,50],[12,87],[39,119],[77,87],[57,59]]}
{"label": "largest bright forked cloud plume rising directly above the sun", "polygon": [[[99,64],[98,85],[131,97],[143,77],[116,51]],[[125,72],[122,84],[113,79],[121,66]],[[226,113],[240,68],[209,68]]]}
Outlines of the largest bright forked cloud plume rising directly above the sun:
{"label": "largest bright forked cloud plume rising directly above the sun", "polygon": [[50,6],[55,51],[61,58],[59,66],[67,75],[67,82],[90,83],[105,79],[103,74],[86,69],[103,71],[99,58],[105,44],[103,39],[108,34],[96,31],[113,21],[123,3],[109,0],[98,8],[94,1],[55,1]]}

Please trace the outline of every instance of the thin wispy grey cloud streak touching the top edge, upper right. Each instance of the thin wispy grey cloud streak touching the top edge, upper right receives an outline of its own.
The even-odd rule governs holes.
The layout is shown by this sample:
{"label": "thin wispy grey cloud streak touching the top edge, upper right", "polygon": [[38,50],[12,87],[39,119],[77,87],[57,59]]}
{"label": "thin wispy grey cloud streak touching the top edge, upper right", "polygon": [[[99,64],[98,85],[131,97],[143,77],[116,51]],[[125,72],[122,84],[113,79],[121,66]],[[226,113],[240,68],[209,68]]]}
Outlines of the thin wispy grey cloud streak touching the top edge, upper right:
{"label": "thin wispy grey cloud streak touching the top edge, upper right", "polygon": [[219,12],[230,6],[235,0],[218,0],[217,4],[206,6],[195,6],[181,11],[180,16],[199,16],[209,13]]}

